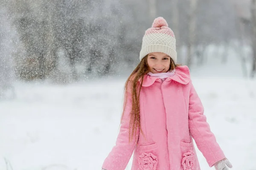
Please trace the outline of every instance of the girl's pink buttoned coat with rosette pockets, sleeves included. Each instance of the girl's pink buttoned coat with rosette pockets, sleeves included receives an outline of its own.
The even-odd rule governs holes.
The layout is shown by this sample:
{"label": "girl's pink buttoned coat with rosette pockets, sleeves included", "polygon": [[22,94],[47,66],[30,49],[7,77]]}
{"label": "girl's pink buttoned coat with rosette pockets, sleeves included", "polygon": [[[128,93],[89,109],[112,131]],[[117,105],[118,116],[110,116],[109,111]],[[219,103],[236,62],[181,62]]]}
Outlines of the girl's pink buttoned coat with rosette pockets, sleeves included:
{"label": "girl's pink buttoned coat with rosette pockets, sleeves included", "polygon": [[187,66],[178,66],[175,75],[164,82],[144,75],[142,86],[140,125],[144,136],[137,130],[137,137],[128,142],[130,96],[116,145],[102,168],[125,170],[134,152],[131,170],[200,170],[192,138],[210,167],[225,158],[207,123]]}

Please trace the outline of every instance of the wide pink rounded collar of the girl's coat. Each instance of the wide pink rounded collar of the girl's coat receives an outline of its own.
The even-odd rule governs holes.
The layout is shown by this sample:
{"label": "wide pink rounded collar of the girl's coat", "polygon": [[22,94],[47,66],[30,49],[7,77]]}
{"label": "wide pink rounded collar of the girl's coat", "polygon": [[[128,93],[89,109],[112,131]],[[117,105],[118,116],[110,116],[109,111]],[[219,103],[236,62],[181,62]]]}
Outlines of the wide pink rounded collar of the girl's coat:
{"label": "wide pink rounded collar of the girl's coat", "polygon": [[[141,79],[139,79],[139,82],[141,83]],[[186,85],[190,81],[190,73],[189,73],[189,68],[184,65],[184,66],[177,66],[175,68],[175,74],[172,77],[166,78],[165,81],[170,81],[173,80],[175,82],[178,82],[180,84]],[[143,87],[148,87],[154,84],[154,82],[162,82],[162,80],[158,77],[151,77],[148,74],[144,75],[143,79]]]}

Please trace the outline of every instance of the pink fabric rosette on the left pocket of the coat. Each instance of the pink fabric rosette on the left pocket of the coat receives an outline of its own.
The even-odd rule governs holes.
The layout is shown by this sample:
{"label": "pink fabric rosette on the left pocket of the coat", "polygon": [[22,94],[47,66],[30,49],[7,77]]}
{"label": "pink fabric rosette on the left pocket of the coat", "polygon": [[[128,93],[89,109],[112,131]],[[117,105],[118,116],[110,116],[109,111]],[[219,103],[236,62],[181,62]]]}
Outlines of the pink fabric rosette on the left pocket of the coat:
{"label": "pink fabric rosette on the left pocket of the coat", "polygon": [[139,156],[138,170],[156,170],[158,159],[153,153],[142,153]]}

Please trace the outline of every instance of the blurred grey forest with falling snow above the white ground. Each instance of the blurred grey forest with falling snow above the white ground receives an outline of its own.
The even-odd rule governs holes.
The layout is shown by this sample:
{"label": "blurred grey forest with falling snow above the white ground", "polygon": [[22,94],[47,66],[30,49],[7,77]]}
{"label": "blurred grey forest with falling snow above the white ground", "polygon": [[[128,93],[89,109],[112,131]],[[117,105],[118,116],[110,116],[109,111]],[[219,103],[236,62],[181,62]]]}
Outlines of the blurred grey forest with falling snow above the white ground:
{"label": "blurred grey forest with falling snow above the white ground", "polygon": [[244,76],[253,77],[253,2],[1,0],[1,79],[67,83],[129,72],[139,61],[145,30],[158,16],[175,32],[179,63],[200,67],[212,47],[225,63],[232,49]]}

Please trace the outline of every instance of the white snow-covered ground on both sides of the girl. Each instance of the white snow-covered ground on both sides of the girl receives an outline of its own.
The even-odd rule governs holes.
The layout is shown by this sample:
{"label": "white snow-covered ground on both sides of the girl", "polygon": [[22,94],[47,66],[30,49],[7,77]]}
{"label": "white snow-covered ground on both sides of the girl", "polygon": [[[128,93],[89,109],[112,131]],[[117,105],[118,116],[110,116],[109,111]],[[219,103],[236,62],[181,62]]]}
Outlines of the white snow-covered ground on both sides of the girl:
{"label": "white snow-covered ground on both sides of the girl", "polygon": [[[232,170],[256,170],[256,80],[192,80]],[[124,82],[16,83],[16,98],[0,101],[0,170],[101,170],[118,134]],[[213,170],[197,153],[201,170]]]}

